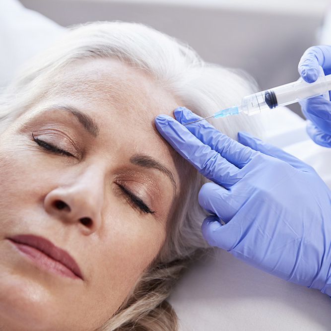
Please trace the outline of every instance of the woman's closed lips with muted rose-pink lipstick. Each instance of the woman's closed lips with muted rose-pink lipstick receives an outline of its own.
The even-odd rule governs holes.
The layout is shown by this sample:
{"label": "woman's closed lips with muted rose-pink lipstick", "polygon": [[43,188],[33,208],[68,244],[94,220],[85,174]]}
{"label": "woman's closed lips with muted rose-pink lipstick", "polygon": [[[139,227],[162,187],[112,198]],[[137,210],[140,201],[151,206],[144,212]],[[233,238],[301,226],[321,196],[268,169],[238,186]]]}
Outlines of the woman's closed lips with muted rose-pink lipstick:
{"label": "woman's closed lips with muted rose-pink lipstick", "polygon": [[83,279],[75,260],[49,240],[30,234],[21,234],[7,239],[37,264],[63,276]]}

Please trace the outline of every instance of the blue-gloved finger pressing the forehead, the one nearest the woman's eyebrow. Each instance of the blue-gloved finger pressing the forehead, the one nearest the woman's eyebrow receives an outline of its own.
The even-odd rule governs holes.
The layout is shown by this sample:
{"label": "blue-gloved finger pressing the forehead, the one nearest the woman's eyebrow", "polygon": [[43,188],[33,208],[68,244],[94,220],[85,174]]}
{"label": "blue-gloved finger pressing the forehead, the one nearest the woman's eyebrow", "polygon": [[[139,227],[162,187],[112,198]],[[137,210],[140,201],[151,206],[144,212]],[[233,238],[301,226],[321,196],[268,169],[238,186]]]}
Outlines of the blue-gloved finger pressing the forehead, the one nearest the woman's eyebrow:
{"label": "blue-gloved finger pressing the forehead, the one nearest the woman's eyebrow", "polygon": [[170,145],[206,178],[225,188],[231,187],[241,178],[236,166],[170,116],[157,116],[155,125]]}

